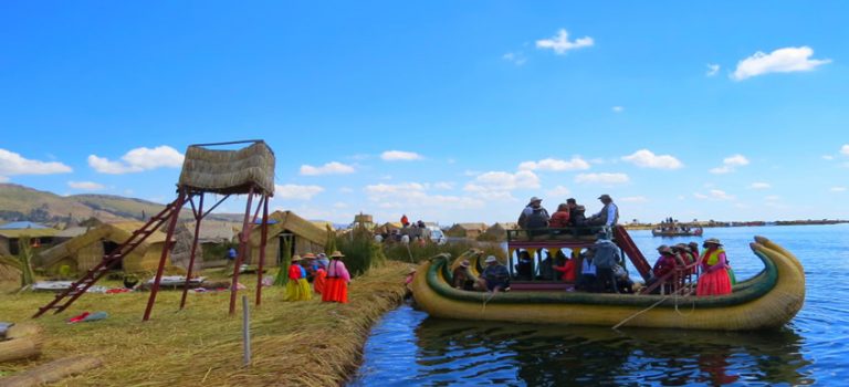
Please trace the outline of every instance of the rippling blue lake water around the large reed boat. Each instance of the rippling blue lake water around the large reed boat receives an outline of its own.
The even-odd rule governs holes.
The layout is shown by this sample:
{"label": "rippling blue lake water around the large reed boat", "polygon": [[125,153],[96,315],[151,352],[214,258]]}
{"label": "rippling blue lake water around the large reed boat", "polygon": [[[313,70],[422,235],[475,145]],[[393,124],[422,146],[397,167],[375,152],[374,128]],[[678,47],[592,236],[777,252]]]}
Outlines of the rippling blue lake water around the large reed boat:
{"label": "rippling blue lake water around the large reed boat", "polygon": [[[764,236],[805,266],[805,306],[783,328],[724,333],[452,321],[403,305],[371,331],[350,386],[849,385],[849,224],[705,229],[737,279],[763,269]],[[632,231],[654,249],[701,238]],[[639,278],[639,275],[632,275]],[[685,312],[684,312],[685,313]]]}

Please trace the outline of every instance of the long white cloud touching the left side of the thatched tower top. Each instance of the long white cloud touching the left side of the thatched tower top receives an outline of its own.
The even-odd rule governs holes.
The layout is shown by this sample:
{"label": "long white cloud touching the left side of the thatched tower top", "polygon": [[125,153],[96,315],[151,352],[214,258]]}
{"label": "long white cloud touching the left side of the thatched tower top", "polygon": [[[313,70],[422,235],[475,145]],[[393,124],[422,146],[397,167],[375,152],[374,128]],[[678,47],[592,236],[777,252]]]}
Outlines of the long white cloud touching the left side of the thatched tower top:
{"label": "long white cloud touching the left side of the thatched tower top", "polygon": [[179,168],[185,156],[167,145],[140,147],[127,151],[119,161],[88,155],[88,166],[101,174],[122,175],[157,168]]}

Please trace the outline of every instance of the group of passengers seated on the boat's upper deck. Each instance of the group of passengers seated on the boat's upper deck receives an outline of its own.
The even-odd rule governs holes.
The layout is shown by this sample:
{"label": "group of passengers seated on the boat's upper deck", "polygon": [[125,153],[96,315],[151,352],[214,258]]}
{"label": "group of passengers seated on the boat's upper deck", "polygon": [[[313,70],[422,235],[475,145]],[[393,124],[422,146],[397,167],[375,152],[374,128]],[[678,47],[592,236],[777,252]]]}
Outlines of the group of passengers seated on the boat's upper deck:
{"label": "group of passengers seated on the boat's upper deck", "polygon": [[619,209],[614,203],[614,200],[608,195],[601,195],[598,199],[601,200],[604,207],[598,213],[589,218],[585,215],[585,207],[578,206],[575,198],[569,198],[565,203],[557,206],[557,212],[549,217],[548,211],[543,207],[543,199],[533,197],[518,216],[517,223],[521,229],[526,230],[585,226],[611,227],[616,224],[619,219]]}

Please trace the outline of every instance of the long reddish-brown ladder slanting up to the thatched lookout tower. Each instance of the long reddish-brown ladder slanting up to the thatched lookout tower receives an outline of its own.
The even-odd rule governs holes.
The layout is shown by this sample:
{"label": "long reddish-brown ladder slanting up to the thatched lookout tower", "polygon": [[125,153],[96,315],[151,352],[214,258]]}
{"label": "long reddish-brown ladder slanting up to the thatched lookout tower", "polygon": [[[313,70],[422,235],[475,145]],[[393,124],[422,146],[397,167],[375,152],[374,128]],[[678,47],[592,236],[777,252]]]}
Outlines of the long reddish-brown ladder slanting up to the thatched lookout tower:
{"label": "long reddish-brown ladder slanting up to the thatched lookout tower", "polygon": [[[150,220],[145,223],[145,226],[136,231],[133,231],[133,234],[126,241],[124,241],[124,243],[115,248],[115,250],[108,254],[103,255],[101,263],[90,269],[85,275],[83,275],[83,278],[74,281],[66,290],[57,293],[53,301],[42,307],[39,307],[39,312],[36,312],[32,318],[38,318],[50,310],[55,310],[54,314],[57,314],[71,306],[71,304],[73,304],[76,299],[83,295],[88,290],[88,287],[92,287],[95,282],[106,275],[109,269],[114,268],[124,259],[124,257],[127,257],[127,254],[129,254],[139,244],[142,244],[147,239],[147,237],[150,237],[150,234],[159,229],[159,227],[161,227],[166,220],[170,219],[172,216],[177,216],[177,213],[175,213],[175,209],[177,208],[177,201],[179,200],[180,199],[177,199],[168,203],[165,206],[165,209],[161,212],[151,217]],[[163,249],[168,248],[169,244],[168,241],[166,241]]]}

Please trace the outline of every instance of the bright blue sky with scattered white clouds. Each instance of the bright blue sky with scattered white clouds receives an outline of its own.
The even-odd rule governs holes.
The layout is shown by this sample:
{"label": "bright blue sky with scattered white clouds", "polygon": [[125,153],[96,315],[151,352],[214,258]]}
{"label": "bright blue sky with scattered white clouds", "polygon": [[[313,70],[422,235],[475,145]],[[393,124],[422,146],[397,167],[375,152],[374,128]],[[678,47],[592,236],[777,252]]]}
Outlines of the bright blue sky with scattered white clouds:
{"label": "bright blue sky with scattered white clouds", "polygon": [[[174,198],[262,138],[275,209],[849,218],[849,4],[2,2],[0,181]],[[239,211],[240,202],[223,208]]]}

